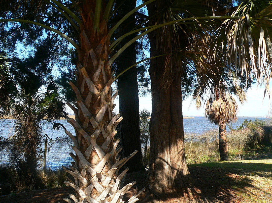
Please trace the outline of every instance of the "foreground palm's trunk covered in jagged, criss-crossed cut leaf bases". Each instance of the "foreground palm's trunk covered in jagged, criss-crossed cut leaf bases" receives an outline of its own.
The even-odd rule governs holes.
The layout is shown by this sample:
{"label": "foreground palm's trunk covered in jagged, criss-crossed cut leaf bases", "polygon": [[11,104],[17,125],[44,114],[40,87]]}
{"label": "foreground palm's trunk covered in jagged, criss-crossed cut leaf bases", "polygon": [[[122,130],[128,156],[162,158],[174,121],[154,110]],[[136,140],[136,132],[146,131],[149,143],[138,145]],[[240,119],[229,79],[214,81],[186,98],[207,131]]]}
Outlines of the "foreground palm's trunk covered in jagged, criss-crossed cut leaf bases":
{"label": "foreground palm's trunk covered in jagged, criss-crossed cut leaf bases", "polygon": [[[75,112],[75,120],[68,118],[76,135],[66,133],[74,142],[76,155],[70,169],[64,170],[72,175],[72,183],[65,182],[76,190],[76,196],[70,194],[75,202],[123,202],[123,195],[135,182],[120,187],[128,171],[120,172],[121,167],[135,154],[120,159],[121,149],[117,149],[119,139],[114,140],[116,126],[122,120],[113,116],[113,104],[117,93],[111,92],[114,81],[111,64],[108,63],[109,40],[107,22],[101,20],[99,28],[94,29],[93,14],[96,1],[82,1],[81,48],[78,50],[77,84],[70,82],[76,93],[78,109],[69,106]],[[103,5],[103,4],[102,4]],[[101,9],[103,11],[103,9]],[[97,22],[96,22],[97,23]],[[70,202],[69,199],[64,199]],[[137,201],[137,195],[129,202]]]}

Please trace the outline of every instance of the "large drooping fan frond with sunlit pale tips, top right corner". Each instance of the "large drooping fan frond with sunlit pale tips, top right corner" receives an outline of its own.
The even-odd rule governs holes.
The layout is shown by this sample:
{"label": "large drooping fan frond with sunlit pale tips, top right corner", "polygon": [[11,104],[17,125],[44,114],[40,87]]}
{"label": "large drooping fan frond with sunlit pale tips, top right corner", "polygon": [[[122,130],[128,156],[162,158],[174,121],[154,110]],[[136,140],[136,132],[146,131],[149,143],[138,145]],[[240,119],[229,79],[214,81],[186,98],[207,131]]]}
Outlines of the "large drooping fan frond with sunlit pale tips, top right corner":
{"label": "large drooping fan frond with sunlit pale tips, top right corner", "polygon": [[[269,84],[271,79],[271,55],[267,51],[267,39],[271,36],[272,5],[270,1],[244,1],[218,28],[211,45],[211,61],[217,61],[218,54],[224,61],[236,68],[246,79],[254,76],[258,82]],[[220,58],[221,59],[221,58]],[[215,62],[216,63],[216,62]]]}

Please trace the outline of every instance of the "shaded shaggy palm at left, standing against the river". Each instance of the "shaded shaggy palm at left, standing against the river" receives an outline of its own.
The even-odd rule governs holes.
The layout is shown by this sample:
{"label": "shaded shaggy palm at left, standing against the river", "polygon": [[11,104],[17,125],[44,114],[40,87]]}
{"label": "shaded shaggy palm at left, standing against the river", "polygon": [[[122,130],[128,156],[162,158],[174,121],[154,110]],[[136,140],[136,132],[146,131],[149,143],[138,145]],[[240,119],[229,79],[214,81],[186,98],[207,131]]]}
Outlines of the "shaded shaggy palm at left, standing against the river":
{"label": "shaded shaggy palm at left, standing against the river", "polygon": [[52,77],[47,78],[47,88],[43,92],[43,76],[29,71],[28,67],[24,69],[16,70],[14,81],[17,89],[3,112],[15,119],[15,134],[10,139],[13,143],[12,160],[17,163],[20,181],[28,187],[26,189],[33,183],[38,189],[44,187],[37,174],[38,161],[42,157],[39,150],[44,134],[42,128],[44,123],[60,119],[67,113]]}

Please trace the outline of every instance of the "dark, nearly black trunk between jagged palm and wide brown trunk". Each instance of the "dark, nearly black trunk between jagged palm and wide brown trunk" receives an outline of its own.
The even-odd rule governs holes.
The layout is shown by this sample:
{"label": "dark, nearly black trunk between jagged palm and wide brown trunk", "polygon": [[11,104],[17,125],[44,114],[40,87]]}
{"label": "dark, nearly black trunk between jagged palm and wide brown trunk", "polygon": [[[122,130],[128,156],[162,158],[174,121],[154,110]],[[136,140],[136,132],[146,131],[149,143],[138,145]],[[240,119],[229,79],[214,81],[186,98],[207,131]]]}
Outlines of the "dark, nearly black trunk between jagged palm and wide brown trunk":
{"label": "dark, nearly black trunk between jagged palm and wide brown trunk", "polygon": [[[116,1],[120,4],[123,0]],[[127,1],[120,5],[118,16],[123,17],[128,11],[131,11],[136,6],[136,0]],[[131,15],[120,26],[120,36],[128,33],[135,27],[135,15]],[[125,45],[129,40],[133,39],[136,34],[126,37],[120,43],[120,47]],[[118,73],[122,72],[129,66],[136,63],[136,45],[135,43],[129,46],[125,52],[118,56],[116,64]],[[141,141],[140,141],[140,117],[139,117],[139,98],[138,98],[138,82],[136,66],[126,71],[118,78],[119,91],[119,112],[123,117],[119,123],[118,133],[120,145],[122,147],[121,158],[129,156],[135,150],[138,151],[127,163],[126,167],[129,172],[136,172],[143,169]]]}

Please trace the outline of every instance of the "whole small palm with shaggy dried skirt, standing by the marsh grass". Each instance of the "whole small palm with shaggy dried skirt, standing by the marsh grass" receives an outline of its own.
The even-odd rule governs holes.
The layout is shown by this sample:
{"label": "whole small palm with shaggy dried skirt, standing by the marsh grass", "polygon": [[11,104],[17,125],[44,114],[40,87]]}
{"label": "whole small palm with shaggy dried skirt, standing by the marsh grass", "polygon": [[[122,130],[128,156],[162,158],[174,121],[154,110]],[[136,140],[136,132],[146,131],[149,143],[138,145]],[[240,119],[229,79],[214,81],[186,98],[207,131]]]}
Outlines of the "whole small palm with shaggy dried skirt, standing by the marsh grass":
{"label": "whole small palm with shaggy dried skirt, standing by the marsh grass", "polygon": [[226,124],[237,121],[238,104],[232,93],[236,95],[241,104],[246,101],[245,88],[233,72],[226,72],[226,68],[221,68],[217,81],[210,81],[209,87],[198,85],[193,93],[196,100],[196,107],[199,109],[203,95],[207,93],[205,116],[219,130],[219,153],[221,161],[228,160],[228,143]]}

